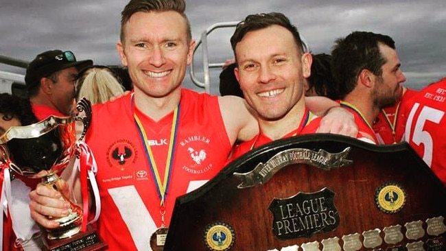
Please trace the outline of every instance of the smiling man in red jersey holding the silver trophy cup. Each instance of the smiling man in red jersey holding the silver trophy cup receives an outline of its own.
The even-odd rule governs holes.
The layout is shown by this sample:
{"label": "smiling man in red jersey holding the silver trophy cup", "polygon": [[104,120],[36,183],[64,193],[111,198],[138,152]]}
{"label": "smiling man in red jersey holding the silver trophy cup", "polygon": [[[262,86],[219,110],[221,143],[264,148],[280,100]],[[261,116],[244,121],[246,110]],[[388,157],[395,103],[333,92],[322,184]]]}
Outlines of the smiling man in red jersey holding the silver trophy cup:
{"label": "smiling man in red jersey holding the silver trophy cup", "polygon": [[[121,12],[117,50],[134,91],[93,106],[86,136],[110,250],[162,246],[176,198],[218,174],[233,143],[258,131],[243,99],[181,88],[195,46],[184,11],[183,0],[131,0]],[[30,196],[32,217],[47,228],[58,224],[45,215],[67,214],[60,193],[38,186]]]}

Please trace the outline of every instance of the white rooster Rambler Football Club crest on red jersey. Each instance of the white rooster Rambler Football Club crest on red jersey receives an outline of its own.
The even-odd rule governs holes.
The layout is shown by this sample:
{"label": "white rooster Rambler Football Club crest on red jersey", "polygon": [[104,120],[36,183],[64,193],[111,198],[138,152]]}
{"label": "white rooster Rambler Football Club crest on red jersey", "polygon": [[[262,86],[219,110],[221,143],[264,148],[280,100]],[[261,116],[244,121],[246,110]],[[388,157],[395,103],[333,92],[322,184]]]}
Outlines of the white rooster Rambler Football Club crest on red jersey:
{"label": "white rooster Rambler Football Club crest on red jersey", "polygon": [[211,140],[205,136],[193,135],[180,141],[178,150],[187,154],[189,158],[183,163],[183,170],[190,174],[204,174],[212,167],[209,163],[209,143]]}

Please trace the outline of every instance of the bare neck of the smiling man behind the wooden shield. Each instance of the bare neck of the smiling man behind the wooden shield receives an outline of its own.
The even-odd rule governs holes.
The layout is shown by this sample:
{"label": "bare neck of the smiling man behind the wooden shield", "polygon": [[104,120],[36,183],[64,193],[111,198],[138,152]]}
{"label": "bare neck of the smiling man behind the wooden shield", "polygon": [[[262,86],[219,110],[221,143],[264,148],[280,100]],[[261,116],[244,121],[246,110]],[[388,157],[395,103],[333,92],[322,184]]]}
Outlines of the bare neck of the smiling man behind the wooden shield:
{"label": "bare neck of the smiling man behind the wooden shield", "polygon": [[296,104],[292,110],[287,112],[281,119],[259,119],[259,128],[262,134],[275,141],[301,126],[301,121],[304,115],[305,106]]}

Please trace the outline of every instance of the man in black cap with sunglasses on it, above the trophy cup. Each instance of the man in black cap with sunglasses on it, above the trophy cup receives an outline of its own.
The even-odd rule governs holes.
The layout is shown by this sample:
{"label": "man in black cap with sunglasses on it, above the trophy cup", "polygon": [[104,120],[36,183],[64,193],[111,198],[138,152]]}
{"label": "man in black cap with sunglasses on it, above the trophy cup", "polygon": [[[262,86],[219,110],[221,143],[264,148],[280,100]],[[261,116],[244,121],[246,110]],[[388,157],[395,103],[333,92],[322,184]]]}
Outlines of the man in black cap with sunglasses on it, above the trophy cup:
{"label": "man in black cap with sunglasses on it, above the trophy cup", "polygon": [[50,115],[73,115],[75,76],[80,69],[91,64],[91,60],[77,61],[71,51],[54,49],[38,54],[28,65],[25,74],[34,115],[39,120]]}

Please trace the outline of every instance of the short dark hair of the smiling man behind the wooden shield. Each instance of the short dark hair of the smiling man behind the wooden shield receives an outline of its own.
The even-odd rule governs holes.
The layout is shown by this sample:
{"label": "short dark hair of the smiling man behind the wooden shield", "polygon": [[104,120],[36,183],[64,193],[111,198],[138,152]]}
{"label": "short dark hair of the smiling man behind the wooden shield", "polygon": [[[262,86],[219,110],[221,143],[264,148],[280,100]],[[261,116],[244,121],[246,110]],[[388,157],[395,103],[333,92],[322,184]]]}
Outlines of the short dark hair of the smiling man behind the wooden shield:
{"label": "short dark hair of the smiling man behind the wooden shield", "polygon": [[289,30],[292,33],[294,40],[296,41],[298,51],[303,53],[301,36],[299,35],[296,26],[292,25],[290,19],[288,19],[284,14],[279,12],[270,12],[248,15],[246,16],[246,19],[244,19],[244,21],[241,21],[237,24],[237,27],[235,27],[235,32],[231,37],[231,47],[233,48],[234,55],[235,46],[244,38],[244,36],[246,36],[248,32],[264,29],[272,25],[279,25]]}

